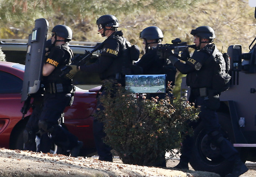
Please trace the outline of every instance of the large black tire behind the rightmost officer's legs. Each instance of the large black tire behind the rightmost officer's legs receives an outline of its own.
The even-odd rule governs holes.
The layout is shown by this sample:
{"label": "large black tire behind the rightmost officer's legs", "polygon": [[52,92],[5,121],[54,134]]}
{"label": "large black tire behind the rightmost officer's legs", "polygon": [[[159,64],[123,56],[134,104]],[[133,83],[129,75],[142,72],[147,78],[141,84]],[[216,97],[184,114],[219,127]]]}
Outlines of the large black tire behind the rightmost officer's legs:
{"label": "large black tire behind the rightmost officer's legs", "polygon": [[[223,136],[234,143],[230,116],[223,113],[218,113],[218,116]],[[221,176],[232,172],[232,163],[228,162],[221,156],[219,147],[214,146],[210,141],[208,141],[208,135],[204,130],[202,122],[196,127],[194,137],[194,147],[190,161],[194,170],[214,172]]]}

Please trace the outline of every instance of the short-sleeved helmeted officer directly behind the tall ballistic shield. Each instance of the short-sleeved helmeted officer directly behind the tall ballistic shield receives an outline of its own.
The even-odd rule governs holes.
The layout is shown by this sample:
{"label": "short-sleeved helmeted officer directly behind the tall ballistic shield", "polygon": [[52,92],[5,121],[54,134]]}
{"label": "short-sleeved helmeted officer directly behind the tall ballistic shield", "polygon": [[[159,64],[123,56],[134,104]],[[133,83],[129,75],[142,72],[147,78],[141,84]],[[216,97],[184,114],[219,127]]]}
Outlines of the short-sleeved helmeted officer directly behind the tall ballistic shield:
{"label": "short-sleeved helmeted officer directly behind the tall ballistic shield", "polygon": [[53,47],[43,65],[43,83],[45,94],[43,108],[39,118],[39,129],[41,131],[39,151],[49,152],[48,136],[57,146],[70,150],[72,157],[77,157],[82,147],[82,142],[69,131],[58,125],[58,119],[65,107],[70,105],[74,88],[72,80],[60,77],[61,68],[70,63],[73,57],[69,48],[72,39],[72,30],[65,25],[57,25],[52,29]]}

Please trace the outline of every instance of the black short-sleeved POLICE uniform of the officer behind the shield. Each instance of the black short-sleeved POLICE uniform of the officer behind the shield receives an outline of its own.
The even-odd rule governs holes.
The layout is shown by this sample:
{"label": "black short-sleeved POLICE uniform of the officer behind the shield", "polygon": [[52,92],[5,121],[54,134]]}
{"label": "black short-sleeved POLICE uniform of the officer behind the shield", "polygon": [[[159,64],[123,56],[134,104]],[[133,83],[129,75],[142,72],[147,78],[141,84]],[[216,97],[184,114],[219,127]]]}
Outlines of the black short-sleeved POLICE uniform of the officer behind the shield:
{"label": "black short-sleeved POLICE uniform of the officer behind the shield", "polygon": [[[40,130],[41,139],[38,151],[44,153],[50,151],[49,135],[51,135],[52,141],[57,146],[63,147],[65,150],[71,150],[78,145],[77,137],[58,125],[58,119],[65,107],[70,104],[73,95],[72,81],[71,79],[60,77],[60,69],[70,63],[72,55],[72,50],[67,44],[51,48],[45,63],[55,66],[55,69],[49,76],[43,77],[45,87],[43,103],[41,107],[39,105],[37,109],[33,110],[29,120],[30,124],[26,126],[26,128],[30,129],[28,132],[33,131],[35,133]],[[38,122],[38,127],[36,124],[31,125],[33,122]],[[33,137],[31,138],[34,140]],[[28,148],[34,148],[34,145],[28,145]]]}

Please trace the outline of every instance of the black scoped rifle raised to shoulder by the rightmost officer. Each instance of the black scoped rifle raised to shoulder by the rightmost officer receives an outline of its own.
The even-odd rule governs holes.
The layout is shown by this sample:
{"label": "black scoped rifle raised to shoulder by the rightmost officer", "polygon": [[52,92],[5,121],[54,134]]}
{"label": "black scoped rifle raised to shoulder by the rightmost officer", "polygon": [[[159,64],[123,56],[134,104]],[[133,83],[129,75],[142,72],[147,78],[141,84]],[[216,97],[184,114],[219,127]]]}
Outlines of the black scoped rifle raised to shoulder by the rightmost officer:
{"label": "black scoped rifle raised to shoulder by the rightmost officer", "polygon": [[182,59],[183,57],[178,56],[179,54],[186,54],[188,48],[196,48],[195,45],[187,45],[187,42],[181,42],[179,38],[172,40],[172,43],[173,44],[158,44],[156,49],[159,55],[175,55],[179,59]]}

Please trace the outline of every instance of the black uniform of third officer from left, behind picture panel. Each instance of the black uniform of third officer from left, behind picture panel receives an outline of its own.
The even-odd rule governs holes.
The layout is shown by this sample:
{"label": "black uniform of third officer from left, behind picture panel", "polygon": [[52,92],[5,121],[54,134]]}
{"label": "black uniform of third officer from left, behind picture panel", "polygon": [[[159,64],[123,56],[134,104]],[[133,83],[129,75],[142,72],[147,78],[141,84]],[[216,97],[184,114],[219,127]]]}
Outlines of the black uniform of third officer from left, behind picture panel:
{"label": "black uniform of third officer from left, behind picture panel", "polygon": [[[171,85],[174,85],[176,68],[171,63],[166,65],[166,60],[159,57],[160,56],[157,55],[156,47],[152,47],[146,51],[135,65],[142,68],[143,74],[166,74],[165,86],[167,87],[168,81],[172,82]],[[156,96],[160,99],[165,98],[165,94],[147,94],[147,98]]]}

